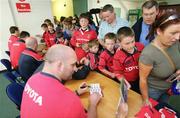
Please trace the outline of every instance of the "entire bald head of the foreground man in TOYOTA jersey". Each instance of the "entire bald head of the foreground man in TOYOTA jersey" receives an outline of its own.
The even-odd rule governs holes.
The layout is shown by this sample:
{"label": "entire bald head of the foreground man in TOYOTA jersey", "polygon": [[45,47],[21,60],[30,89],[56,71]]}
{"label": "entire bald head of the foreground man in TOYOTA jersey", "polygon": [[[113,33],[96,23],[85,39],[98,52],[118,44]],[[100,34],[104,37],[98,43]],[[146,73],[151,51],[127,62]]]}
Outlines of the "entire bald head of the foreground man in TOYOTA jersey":
{"label": "entire bald head of the foreground man in TOYOTA jersey", "polygon": [[56,44],[50,47],[45,55],[43,72],[50,73],[59,79],[68,80],[76,68],[76,53],[68,46]]}

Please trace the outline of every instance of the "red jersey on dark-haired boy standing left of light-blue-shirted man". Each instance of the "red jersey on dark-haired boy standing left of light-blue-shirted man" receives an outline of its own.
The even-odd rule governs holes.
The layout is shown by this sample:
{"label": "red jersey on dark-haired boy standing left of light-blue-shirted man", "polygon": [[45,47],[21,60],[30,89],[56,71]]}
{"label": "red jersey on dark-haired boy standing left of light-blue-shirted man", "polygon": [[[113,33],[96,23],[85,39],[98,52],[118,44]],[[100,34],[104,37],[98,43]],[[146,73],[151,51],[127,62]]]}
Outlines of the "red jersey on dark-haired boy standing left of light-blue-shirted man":
{"label": "red jersey on dark-haired boy standing left of light-blue-shirted man", "polygon": [[96,38],[97,38],[96,31],[91,30],[91,29],[82,30],[80,28],[74,31],[72,38],[70,40],[70,43],[73,47],[76,47],[76,43],[84,44]]}

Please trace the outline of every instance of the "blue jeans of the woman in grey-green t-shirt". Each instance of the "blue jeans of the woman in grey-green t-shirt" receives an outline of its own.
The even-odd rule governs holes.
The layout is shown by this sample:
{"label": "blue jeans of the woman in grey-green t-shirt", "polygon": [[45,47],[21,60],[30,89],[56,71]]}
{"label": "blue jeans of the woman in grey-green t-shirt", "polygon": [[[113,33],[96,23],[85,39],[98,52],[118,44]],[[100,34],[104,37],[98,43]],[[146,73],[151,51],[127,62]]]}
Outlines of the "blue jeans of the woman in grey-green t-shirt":
{"label": "blue jeans of the woman in grey-green t-shirt", "polygon": [[166,90],[159,90],[149,87],[148,91],[150,98],[153,98],[154,100],[157,100],[159,102],[168,102],[169,95],[166,93]]}

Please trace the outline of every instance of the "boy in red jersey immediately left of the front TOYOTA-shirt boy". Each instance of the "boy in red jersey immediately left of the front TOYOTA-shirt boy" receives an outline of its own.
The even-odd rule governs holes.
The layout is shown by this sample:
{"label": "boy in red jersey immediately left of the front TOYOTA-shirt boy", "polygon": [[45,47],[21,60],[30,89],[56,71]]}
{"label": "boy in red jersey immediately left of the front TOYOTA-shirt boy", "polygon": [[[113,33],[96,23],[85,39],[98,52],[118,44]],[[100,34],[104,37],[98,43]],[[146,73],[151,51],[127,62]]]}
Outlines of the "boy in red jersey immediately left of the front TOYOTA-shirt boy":
{"label": "boy in red jersey immediately left of the front TOYOTA-shirt boy", "polygon": [[110,78],[115,78],[113,73],[113,56],[115,53],[116,35],[107,33],[104,38],[105,50],[100,54],[98,69]]}

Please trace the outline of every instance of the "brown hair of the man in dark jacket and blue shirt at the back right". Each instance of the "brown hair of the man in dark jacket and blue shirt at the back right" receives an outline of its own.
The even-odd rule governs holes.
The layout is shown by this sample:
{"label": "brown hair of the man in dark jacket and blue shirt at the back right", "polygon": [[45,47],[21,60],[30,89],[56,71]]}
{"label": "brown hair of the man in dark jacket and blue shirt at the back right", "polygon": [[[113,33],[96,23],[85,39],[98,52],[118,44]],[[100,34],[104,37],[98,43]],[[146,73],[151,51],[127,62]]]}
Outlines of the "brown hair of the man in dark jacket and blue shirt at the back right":
{"label": "brown hair of the man in dark jacket and blue shirt at the back right", "polygon": [[156,9],[159,9],[159,4],[156,0],[148,0],[142,5],[142,10],[143,8],[151,9],[154,6],[156,7]]}

